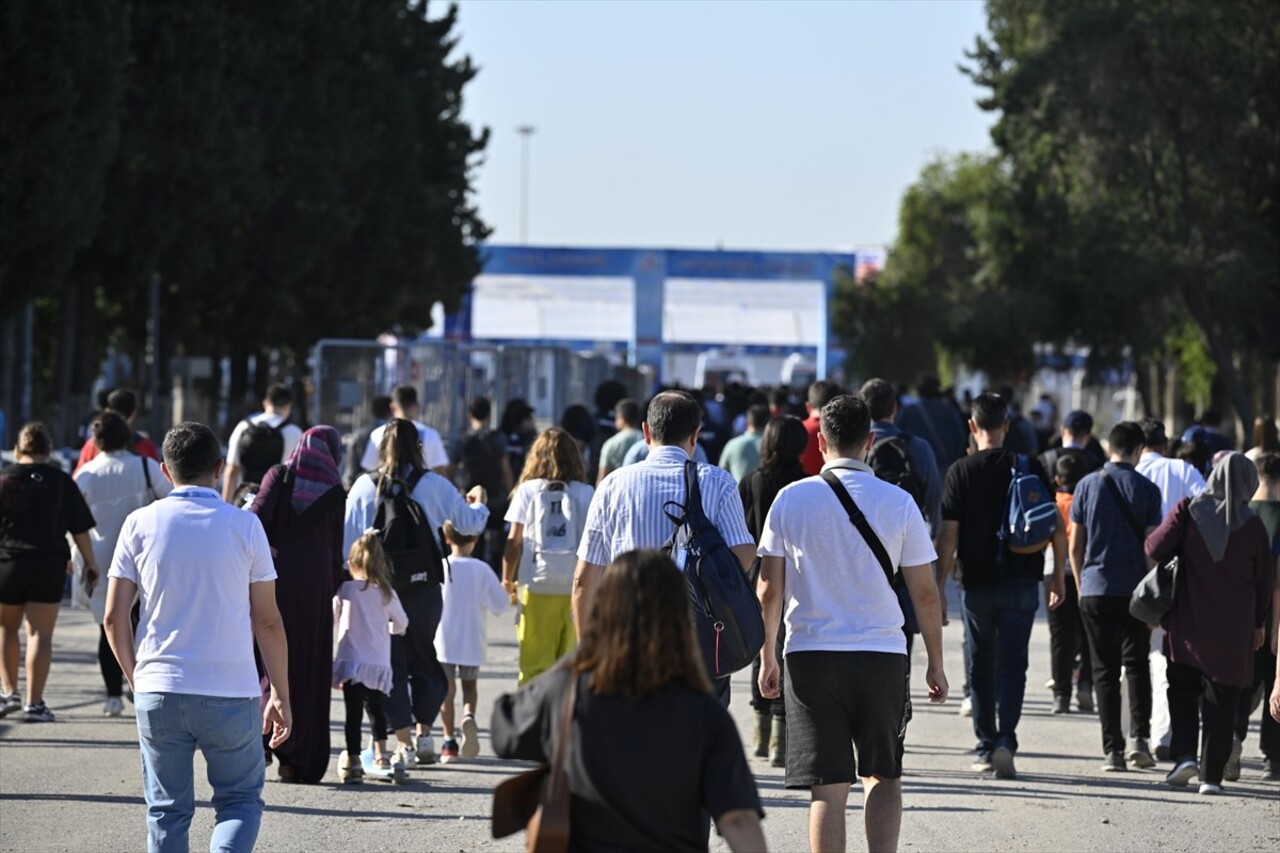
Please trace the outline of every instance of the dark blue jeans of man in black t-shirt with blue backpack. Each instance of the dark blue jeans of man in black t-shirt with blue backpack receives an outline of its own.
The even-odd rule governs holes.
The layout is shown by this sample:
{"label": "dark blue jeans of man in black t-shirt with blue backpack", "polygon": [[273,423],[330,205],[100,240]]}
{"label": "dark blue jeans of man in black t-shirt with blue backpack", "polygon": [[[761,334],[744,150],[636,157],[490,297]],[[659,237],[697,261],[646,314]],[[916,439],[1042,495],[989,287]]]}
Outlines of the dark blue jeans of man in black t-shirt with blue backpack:
{"label": "dark blue jeans of man in black t-shirt with blue backpack", "polygon": [[1018,721],[1027,693],[1027,647],[1038,607],[1038,580],[1015,578],[960,592],[969,644],[973,733],[979,752],[997,747],[1018,751]]}

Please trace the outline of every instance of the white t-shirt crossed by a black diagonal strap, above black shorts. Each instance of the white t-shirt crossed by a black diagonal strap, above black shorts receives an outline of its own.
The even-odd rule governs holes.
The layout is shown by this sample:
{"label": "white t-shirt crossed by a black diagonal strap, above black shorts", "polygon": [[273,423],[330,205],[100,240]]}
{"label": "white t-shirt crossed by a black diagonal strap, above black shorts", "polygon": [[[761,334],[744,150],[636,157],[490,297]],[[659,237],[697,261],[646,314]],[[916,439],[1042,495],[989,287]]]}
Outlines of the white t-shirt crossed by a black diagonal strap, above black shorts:
{"label": "white t-shirt crossed by a black diagonal strap, above black shorts", "polygon": [[[929,528],[911,496],[865,464],[832,469],[884,544],[895,569],[937,558]],[[762,557],[783,557],[786,653],[906,653],[902,611],[884,570],[820,476],[787,485],[773,501],[760,535]]]}

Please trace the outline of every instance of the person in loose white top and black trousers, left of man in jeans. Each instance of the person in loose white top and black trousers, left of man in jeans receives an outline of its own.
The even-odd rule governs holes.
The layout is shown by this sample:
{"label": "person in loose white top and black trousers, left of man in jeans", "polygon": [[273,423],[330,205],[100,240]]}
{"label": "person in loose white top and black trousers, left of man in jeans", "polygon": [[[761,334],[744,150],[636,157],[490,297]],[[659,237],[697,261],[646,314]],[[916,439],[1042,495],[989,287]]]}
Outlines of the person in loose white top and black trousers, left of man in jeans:
{"label": "person in loose white top and black trousers, left of man in jeans", "polygon": [[[96,525],[88,532],[93,543],[93,557],[99,566],[110,566],[115,552],[115,540],[124,526],[124,519],[137,508],[169,494],[173,485],[160,470],[160,462],[147,456],[134,456],[129,450],[129,424],[114,411],[104,411],[90,426],[90,441],[96,452],[93,457],[76,471],[74,480]],[[73,592],[90,588],[84,560],[79,552],[73,555],[76,562],[76,585]],[[116,717],[124,713],[124,672],[111,653],[106,639],[102,619],[106,615],[106,583],[92,584],[92,594],[84,601],[93,620],[97,622],[97,666],[106,686],[106,702],[102,713]]]}

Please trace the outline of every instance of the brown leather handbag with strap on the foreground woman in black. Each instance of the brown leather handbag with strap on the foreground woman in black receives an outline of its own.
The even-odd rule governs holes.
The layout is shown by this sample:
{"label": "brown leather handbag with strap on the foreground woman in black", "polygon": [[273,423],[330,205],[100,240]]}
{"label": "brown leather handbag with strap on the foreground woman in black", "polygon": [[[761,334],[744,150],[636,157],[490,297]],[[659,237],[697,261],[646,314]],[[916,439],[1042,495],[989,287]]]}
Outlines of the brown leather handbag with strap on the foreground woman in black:
{"label": "brown leather handbag with strap on the foreground woman in black", "polygon": [[529,853],[564,853],[568,849],[568,774],[564,753],[573,736],[577,672],[570,675],[561,704],[556,754],[543,765],[500,783],[493,792],[493,836],[527,831]]}

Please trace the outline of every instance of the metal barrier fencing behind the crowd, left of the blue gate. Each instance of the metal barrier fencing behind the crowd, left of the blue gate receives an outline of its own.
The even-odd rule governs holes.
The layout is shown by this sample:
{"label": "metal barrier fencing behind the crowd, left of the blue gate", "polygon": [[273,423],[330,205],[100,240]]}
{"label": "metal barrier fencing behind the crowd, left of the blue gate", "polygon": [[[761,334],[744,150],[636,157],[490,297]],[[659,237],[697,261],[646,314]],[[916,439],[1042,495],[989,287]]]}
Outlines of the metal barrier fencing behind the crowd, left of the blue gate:
{"label": "metal barrier fencing behind the crowd, left of the blue gate", "polygon": [[356,433],[372,420],[374,397],[411,384],[421,420],[448,442],[467,430],[467,403],[475,397],[493,402],[494,425],[507,402],[522,398],[545,426],[572,403],[591,409],[596,386],[614,378],[643,398],[644,380],[636,371],[563,347],[325,338],[311,352],[311,419]]}

